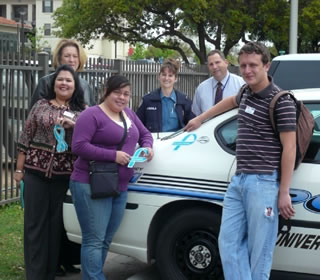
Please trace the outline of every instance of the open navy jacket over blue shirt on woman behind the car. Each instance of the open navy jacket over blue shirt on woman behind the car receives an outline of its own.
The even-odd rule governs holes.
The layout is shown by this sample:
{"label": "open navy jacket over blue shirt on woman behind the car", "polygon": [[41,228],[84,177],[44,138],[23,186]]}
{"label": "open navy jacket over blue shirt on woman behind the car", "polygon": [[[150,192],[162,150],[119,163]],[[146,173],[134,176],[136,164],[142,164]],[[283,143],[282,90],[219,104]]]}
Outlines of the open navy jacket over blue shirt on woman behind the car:
{"label": "open navy jacket over blue shirt on woman behind the car", "polygon": [[[195,115],[191,111],[192,101],[178,90],[174,90],[177,96],[176,112],[180,128],[183,128]],[[142,103],[137,110],[137,115],[150,132],[162,132],[162,103],[160,88],[151,91],[142,98]]]}

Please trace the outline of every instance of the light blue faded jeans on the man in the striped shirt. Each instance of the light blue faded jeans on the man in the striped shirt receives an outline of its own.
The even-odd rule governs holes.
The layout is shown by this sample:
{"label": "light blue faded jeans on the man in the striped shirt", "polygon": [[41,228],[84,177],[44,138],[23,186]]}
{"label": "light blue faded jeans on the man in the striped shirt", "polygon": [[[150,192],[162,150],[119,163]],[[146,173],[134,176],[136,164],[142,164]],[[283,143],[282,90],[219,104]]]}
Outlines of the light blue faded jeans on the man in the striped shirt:
{"label": "light blue faded jeans on the man in the striped shirt", "polygon": [[225,280],[267,280],[278,232],[277,172],[232,177],[219,249]]}

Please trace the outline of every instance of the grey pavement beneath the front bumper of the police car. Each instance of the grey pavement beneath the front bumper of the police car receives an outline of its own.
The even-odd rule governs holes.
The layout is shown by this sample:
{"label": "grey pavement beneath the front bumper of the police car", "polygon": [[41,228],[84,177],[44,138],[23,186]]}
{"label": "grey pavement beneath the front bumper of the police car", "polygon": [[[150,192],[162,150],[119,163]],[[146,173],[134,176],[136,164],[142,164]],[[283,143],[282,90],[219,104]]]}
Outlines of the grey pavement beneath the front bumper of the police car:
{"label": "grey pavement beneath the front bumper of the police car", "polygon": [[[104,274],[108,280],[160,280],[154,266],[142,263],[134,258],[109,253],[104,265]],[[57,280],[81,280],[80,274],[67,274],[56,277]]]}

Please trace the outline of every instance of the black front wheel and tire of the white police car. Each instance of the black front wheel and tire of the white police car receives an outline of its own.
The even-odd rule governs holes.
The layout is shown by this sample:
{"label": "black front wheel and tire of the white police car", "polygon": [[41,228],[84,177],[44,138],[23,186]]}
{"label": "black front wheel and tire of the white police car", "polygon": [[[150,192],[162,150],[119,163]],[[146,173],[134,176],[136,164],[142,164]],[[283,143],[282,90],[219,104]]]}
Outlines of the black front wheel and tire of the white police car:
{"label": "black front wheel and tire of the white police car", "polygon": [[156,246],[162,279],[223,279],[218,249],[221,215],[191,208],[174,215],[163,227]]}

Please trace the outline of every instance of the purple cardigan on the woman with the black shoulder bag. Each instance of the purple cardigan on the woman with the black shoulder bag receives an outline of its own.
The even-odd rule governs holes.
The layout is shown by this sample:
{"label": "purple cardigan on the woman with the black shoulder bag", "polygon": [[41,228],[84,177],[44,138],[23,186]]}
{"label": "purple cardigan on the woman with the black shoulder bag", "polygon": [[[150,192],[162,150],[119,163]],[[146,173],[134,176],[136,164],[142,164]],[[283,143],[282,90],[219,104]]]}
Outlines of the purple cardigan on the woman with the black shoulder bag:
{"label": "purple cardigan on the woman with the black shoulder bag", "polygon": [[[151,133],[144,127],[137,115],[126,108],[124,110],[131,120],[122,151],[133,155],[137,143],[141,147],[152,147]],[[81,183],[89,183],[90,160],[115,161],[117,145],[123,136],[123,127],[111,120],[96,105],[83,111],[74,127],[72,152],[78,155],[74,164],[71,179]],[[119,165],[119,189],[126,191],[133,169]]]}

